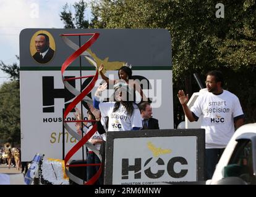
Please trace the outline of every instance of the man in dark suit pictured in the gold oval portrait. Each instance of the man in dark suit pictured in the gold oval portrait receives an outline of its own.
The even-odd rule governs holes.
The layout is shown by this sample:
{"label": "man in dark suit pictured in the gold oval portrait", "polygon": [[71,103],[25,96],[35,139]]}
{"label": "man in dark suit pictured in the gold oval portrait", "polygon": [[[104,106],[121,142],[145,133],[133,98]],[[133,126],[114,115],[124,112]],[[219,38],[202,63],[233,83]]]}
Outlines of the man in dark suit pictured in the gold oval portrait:
{"label": "man in dark suit pictured in the gold oval portrait", "polygon": [[54,50],[49,47],[49,36],[45,33],[40,33],[35,38],[36,53],[33,58],[38,63],[49,62],[54,55]]}

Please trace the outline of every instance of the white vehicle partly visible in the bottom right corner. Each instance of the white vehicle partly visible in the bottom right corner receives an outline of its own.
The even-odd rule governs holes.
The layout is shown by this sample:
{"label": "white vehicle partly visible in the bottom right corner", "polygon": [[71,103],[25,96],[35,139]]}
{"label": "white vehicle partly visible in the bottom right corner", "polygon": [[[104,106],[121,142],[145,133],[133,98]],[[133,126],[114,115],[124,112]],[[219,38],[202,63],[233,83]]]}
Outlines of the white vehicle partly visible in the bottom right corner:
{"label": "white vehicle partly visible in the bottom right corner", "polygon": [[256,184],[256,123],[234,132],[207,185]]}

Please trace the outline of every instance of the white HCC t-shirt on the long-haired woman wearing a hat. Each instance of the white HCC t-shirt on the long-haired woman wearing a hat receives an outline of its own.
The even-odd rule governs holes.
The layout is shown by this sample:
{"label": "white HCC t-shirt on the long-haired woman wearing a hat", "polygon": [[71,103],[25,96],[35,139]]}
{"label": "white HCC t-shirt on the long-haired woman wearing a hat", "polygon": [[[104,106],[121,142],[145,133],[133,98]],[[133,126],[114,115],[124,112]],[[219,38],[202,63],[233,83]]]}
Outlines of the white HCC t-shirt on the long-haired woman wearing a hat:
{"label": "white HCC t-shirt on the long-haired woman wearing a hat", "polygon": [[109,118],[108,131],[131,131],[132,127],[142,128],[140,110],[137,105],[134,104],[134,112],[130,116],[127,115],[127,110],[121,103],[119,109],[113,112],[114,103],[116,102],[100,103],[99,105],[101,116]]}

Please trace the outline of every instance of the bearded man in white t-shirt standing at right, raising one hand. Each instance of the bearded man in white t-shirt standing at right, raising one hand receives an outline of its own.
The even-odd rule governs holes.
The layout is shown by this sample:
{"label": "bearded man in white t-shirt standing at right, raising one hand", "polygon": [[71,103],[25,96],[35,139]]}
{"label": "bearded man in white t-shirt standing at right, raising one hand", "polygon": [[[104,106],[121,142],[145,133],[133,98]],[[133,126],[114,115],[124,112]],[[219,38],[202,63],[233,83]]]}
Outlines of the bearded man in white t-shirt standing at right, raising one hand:
{"label": "bearded man in white t-shirt standing at right, raising one hand", "polygon": [[223,90],[221,71],[210,71],[205,81],[208,92],[198,96],[189,109],[189,95],[179,90],[177,96],[190,122],[202,115],[205,129],[205,180],[211,179],[224,148],[236,129],[244,124],[244,113],[236,95]]}

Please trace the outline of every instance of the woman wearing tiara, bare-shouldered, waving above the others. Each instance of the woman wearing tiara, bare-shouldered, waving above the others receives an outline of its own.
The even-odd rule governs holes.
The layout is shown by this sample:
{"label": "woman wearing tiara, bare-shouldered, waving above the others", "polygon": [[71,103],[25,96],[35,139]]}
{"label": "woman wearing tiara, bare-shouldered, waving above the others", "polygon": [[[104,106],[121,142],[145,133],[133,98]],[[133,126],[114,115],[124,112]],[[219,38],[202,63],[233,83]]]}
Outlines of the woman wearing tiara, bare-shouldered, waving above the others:
{"label": "woman wearing tiara, bare-shouldered, waving above the others", "polygon": [[114,84],[117,84],[117,82],[124,80],[130,87],[132,87],[132,89],[137,90],[137,92],[139,92],[140,96],[142,97],[142,101],[148,101],[148,98],[143,93],[140,87],[140,84],[132,78],[132,70],[127,65],[127,63],[121,68],[119,68],[118,70],[119,79],[114,79],[114,80],[109,79],[107,76],[105,76],[105,74],[103,74],[103,69],[104,69],[104,65],[101,64],[99,68],[100,76],[102,79],[104,79],[107,82],[107,84],[112,83],[114,85]]}

